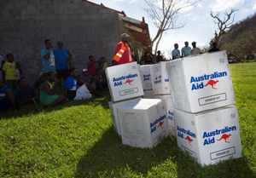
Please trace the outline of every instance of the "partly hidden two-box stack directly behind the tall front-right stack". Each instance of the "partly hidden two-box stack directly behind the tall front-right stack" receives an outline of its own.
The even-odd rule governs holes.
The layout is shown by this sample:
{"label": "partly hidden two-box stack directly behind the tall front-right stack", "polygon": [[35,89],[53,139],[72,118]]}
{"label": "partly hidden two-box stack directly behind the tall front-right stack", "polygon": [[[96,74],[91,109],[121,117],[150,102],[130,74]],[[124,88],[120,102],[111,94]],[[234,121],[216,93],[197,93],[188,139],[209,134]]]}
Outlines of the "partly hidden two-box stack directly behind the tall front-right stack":
{"label": "partly hidden two-box stack directly behind the tall front-right stack", "polygon": [[155,99],[166,100],[166,112],[168,118],[168,133],[176,136],[175,120],[173,117],[172,91],[169,78],[166,72],[166,64],[169,62],[159,62],[153,66],[152,86]]}

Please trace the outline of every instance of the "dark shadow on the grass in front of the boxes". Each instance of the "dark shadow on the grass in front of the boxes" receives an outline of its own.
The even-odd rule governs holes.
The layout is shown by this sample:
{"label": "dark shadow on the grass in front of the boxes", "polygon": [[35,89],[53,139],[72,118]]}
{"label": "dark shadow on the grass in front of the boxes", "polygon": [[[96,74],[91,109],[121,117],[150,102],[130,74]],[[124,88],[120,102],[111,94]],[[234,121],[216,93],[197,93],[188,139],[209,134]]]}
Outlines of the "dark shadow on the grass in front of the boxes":
{"label": "dark shadow on the grass in front of the boxes", "polygon": [[[174,166],[170,166],[170,163]],[[176,165],[176,166],[175,166]],[[80,158],[76,177],[123,177],[177,172],[177,177],[254,177],[245,158],[230,159],[219,164],[201,167],[177,147],[175,137],[168,136],[153,149],[125,146],[113,129],[108,129],[100,141]],[[176,177],[176,175],[172,175]]]}

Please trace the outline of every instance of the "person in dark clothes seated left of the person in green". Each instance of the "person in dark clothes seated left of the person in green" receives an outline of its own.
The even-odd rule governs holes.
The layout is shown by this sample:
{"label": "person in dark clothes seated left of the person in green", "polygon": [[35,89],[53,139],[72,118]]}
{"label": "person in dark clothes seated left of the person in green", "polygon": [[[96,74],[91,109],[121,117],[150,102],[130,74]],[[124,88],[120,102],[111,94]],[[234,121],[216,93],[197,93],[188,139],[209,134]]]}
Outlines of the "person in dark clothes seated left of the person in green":
{"label": "person in dark clothes seated left of the person in green", "polygon": [[15,100],[22,105],[39,102],[36,90],[27,83],[24,77],[20,78],[20,86],[15,89]]}

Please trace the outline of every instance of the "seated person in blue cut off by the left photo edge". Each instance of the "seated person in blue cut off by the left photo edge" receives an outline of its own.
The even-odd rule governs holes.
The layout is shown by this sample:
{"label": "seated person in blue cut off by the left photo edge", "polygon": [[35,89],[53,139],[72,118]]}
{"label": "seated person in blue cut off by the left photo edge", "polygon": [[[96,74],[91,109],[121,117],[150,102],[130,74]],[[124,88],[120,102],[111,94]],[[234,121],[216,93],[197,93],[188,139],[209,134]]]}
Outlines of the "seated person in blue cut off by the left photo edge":
{"label": "seated person in blue cut off by the left photo edge", "polygon": [[15,98],[12,91],[6,84],[3,84],[3,80],[0,78],[0,111],[14,108],[17,110],[15,104]]}

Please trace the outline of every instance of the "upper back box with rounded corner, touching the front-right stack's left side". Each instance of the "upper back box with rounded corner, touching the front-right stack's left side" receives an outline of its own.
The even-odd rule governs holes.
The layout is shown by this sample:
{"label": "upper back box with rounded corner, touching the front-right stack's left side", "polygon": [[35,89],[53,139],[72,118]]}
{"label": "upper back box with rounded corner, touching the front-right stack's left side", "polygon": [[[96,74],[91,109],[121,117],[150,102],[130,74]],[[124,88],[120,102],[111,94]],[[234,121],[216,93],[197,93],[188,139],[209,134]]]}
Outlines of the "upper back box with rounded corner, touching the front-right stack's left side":
{"label": "upper back box with rounded corner, touching the front-right stack's left side", "polygon": [[159,62],[153,66],[153,92],[154,95],[170,94],[169,78],[166,71],[166,64],[169,62]]}

